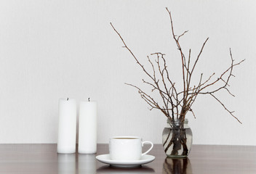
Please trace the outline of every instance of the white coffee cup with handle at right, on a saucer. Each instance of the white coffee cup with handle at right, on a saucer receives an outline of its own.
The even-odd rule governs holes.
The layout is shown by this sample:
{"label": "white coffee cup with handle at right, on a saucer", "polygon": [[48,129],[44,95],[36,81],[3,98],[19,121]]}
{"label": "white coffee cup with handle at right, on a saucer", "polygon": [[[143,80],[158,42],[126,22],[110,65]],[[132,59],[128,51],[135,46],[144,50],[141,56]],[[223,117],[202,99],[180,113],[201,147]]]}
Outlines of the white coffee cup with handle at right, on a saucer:
{"label": "white coffee cup with handle at right, on a saucer", "polygon": [[[151,144],[151,148],[142,153],[144,144]],[[109,154],[112,160],[138,160],[152,148],[151,141],[142,141],[142,138],[137,136],[116,136],[109,140]]]}

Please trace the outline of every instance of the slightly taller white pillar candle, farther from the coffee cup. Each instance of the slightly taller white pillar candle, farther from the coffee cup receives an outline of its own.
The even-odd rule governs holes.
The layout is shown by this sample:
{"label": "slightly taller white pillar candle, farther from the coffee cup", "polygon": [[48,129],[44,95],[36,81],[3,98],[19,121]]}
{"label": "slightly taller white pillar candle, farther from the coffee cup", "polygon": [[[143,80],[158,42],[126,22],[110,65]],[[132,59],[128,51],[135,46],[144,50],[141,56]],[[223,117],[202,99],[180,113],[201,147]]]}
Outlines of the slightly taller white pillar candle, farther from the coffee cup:
{"label": "slightly taller white pillar candle, farther from the coffee cup", "polygon": [[59,128],[57,152],[71,154],[76,152],[76,100],[59,100]]}

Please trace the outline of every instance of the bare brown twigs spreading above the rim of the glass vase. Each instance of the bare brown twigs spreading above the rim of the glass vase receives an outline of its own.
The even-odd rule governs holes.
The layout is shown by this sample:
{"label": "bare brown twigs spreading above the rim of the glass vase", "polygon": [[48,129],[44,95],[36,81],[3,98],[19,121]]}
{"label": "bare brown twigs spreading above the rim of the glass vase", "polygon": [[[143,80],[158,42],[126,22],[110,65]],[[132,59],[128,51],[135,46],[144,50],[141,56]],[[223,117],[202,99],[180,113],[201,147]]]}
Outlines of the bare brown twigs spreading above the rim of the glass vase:
{"label": "bare brown twigs spreading above the rim of the glass vase", "polygon": [[[151,57],[156,57],[154,60],[152,60],[151,57],[149,56],[147,57],[148,62],[150,63],[152,68],[152,73],[150,73],[149,70],[146,70],[145,67],[140,63],[139,59],[137,59],[137,57],[135,56],[135,54],[133,54],[131,49],[129,49],[127,43],[125,43],[120,33],[116,30],[116,28],[114,28],[114,26],[111,23],[113,30],[118,34],[122,43],[124,43],[123,47],[127,49],[130,54],[132,54],[132,57],[135,59],[137,64],[141,67],[143,72],[145,72],[145,74],[151,80],[146,81],[143,79],[143,83],[147,84],[148,86],[151,86],[152,92],[159,93],[159,95],[161,96],[161,101],[156,101],[156,99],[153,99],[151,94],[146,93],[145,91],[143,91],[143,89],[135,85],[132,85],[130,83],[126,84],[134,88],[137,88],[142,99],[145,100],[145,102],[147,102],[148,105],[151,107],[150,109],[159,109],[171,122],[174,120],[180,120],[180,122],[183,123],[185,120],[185,115],[188,112],[192,112],[193,116],[196,117],[193,112],[192,106],[193,103],[196,101],[197,96],[209,95],[212,96],[213,99],[215,99],[218,103],[220,103],[232,117],[234,117],[237,121],[239,121],[239,123],[241,123],[241,121],[235,115],[233,115],[233,111],[225,107],[225,104],[223,104],[223,102],[220,101],[220,99],[218,99],[217,96],[215,96],[215,94],[217,94],[217,92],[221,90],[225,90],[228,92],[228,94],[233,96],[233,94],[231,94],[231,91],[228,89],[228,83],[231,80],[231,77],[234,77],[233,68],[237,65],[240,65],[241,62],[244,62],[245,59],[235,63],[235,60],[233,59],[230,49],[229,53],[231,57],[231,65],[220,76],[215,77],[215,73],[213,73],[207,78],[207,80],[203,80],[203,73],[201,73],[201,76],[199,77],[199,83],[196,86],[192,86],[191,79],[193,77],[193,72],[196,69],[196,65],[199,61],[199,58],[201,57],[201,53],[204,50],[204,46],[206,45],[209,38],[207,38],[204,41],[203,45],[201,46],[201,50],[199,51],[199,54],[196,57],[196,60],[192,63],[191,49],[189,49],[188,57],[185,57],[185,54],[180,46],[179,41],[180,38],[183,37],[185,33],[187,33],[188,31],[185,31],[180,36],[176,36],[172,22],[172,14],[171,12],[169,12],[168,9],[167,12],[170,18],[171,35],[177,45],[178,51],[180,52],[180,60],[182,63],[181,70],[183,88],[181,90],[178,90],[177,86],[175,85],[175,82],[169,76],[169,71],[167,70],[167,59],[165,58],[165,54],[162,54],[161,52],[151,54]],[[156,74],[158,74],[159,76],[157,76]],[[213,78],[215,78],[215,80],[213,80]],[[212,87],[214,87],[215,89],[209,90]]]}

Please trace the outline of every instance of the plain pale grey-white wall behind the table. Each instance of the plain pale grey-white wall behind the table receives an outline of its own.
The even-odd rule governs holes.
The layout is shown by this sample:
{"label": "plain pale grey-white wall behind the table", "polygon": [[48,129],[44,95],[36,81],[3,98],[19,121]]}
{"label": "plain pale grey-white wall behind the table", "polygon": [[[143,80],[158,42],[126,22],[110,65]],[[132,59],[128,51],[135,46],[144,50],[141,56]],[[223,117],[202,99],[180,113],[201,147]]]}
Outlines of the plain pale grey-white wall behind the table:
{"label": "plain pale grey-white wall behind the table", "polygon": [[[235,110],[242,125],[209,96],[188,115],[194,144],[256,145],[255,1],[0,1],[0,143],[56,143],[58,99],[90,97],[98,102],[98,142],[137,135],[161,143],[165,117],[149,111],[137,91],[140,67],[113,32],[115,25],[140,61],[161,51],[172,77],[181,80],[177,49],[169,36],[173,14],[181,43],[193,58],[209,36],[197,73],[220,75],[237,61],[233,98],[218,97]],[[176,64],[177,63],[177,64]],[[179,72],[179,73],[178,73]]]}

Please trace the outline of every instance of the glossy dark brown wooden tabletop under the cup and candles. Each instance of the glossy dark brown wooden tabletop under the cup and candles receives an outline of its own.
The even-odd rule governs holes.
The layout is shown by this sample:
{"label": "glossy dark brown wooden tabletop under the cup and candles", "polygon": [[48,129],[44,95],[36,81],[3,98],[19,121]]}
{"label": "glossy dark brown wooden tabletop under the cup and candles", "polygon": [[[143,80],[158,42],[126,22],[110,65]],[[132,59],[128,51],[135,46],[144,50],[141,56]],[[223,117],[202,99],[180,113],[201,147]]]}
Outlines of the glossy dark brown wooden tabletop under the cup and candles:
{"label": "glossy dark brown wooden tabletop under the cup and candles", "polygon": [[193,145],[186,159],[171,159],[156,144],[149,153],[156,159],[141,167],[115,168],[98,162],[108,145],[98,144],[97,154],[57,154],[56,144],[0,144],[0,173],[256,173],[256,146]]}

